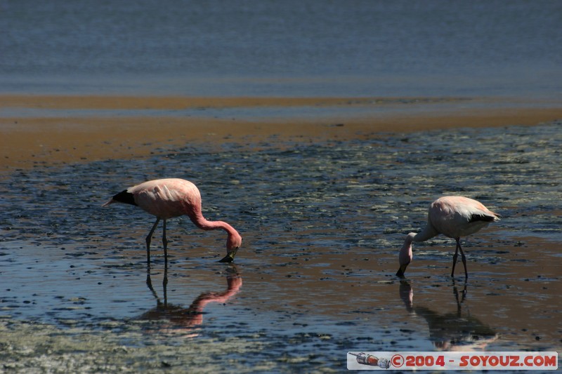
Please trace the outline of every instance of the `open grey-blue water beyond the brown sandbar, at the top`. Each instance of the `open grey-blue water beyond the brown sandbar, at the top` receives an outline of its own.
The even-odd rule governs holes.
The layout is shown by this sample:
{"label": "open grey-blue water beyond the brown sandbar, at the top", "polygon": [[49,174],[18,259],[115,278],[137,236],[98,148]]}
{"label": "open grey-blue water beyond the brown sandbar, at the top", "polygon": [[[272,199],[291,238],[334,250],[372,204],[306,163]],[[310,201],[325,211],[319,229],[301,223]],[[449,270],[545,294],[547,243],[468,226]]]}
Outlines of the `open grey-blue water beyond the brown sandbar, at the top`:
{"label": "open grey-blue water beyond the brown sandbar, at the top", "polygon": [[560,1],[0,1],[0,91],[560,95]]}

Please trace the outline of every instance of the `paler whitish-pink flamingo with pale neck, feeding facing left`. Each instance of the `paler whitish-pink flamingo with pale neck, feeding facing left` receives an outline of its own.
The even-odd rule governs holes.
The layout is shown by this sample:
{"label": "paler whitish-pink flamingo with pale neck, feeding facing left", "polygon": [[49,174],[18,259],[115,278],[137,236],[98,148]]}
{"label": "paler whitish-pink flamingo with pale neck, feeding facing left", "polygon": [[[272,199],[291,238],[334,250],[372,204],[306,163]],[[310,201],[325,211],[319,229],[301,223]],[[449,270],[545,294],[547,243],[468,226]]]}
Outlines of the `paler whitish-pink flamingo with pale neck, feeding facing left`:
{"label": "paler whitish-pink flamingo with pale neck, feeding facing left", "polygon": [[412,262],[412,241],[426,241],[433,236],[443,234],[457,241],[455,255],[452,256],[451,276],[455,274],[455,265],[459,251],[461,252],[462,265],[464,266],[464,278],[469,278],[466,272],[466,258],[461,247],[461,236],[478,232],[490,222],[499,221],[499,215],[489,211],[483,203],[464,196],[443,196],[433,201],[429,206],[427,225],[418,234],[410,232],[406,235],[404,245],[400,249],[398,260],[400,268],[397,276],[403,277],[406,267]]}

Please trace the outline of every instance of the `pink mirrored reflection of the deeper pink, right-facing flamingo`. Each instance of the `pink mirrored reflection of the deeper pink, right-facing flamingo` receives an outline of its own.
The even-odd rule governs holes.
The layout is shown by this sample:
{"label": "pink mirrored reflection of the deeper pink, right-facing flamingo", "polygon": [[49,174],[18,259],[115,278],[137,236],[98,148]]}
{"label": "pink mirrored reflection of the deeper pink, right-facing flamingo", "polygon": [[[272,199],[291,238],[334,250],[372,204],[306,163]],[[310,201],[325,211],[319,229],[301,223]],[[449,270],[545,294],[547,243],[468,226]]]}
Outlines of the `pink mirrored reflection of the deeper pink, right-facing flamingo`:
{"label": "pink mirrored reflection of the deeper pink, right-facing flamingo", "polygon": [[[164,279],[167,280],[167,268],[164,268]],[[224,304],[233,298],[242,287],[242,277],[238,274],[235,265],[230,265],[226,275],[226,290],[220,292],[204,292],[199,295],[189,307],[174,305],[168,302],[167,281],[162,283],[164,289],[164,300],[162,301],[150,282],[148,275],[148,288],[156,298],[156,307],[143,313],[138,319],[150,321],[165,321],[162,324],[155,324],[159,332],[169,335],[181,335],[185,338],[197,336],[196,328],[203,323],[204,309],[212,302]],[[151,326],[152,328],[152,326]]]}

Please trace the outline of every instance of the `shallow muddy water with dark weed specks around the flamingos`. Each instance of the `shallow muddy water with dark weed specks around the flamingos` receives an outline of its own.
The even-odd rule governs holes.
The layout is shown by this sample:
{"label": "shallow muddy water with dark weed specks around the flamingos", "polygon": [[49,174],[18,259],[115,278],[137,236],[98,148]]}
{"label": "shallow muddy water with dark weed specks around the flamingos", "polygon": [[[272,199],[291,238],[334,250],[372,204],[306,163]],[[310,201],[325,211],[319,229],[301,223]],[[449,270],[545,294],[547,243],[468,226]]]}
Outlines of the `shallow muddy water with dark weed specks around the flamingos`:
{"label": "shallow muddy water with dark weed specks around the flamingos", "polygon": [[[0,367],[329,372],[358,349],[559,350],[561,126],[185,145],[3,175]],[[100,205],[164,176],[199,185],[204,215],[244,243],[218,263],[223,232],[170,221],[169,281],[157,234],[151,290],[152,218]],[[464,241],[466,283],[443,236],[414,246],[400,281],[403,235],[441,194],[502,221]]]}

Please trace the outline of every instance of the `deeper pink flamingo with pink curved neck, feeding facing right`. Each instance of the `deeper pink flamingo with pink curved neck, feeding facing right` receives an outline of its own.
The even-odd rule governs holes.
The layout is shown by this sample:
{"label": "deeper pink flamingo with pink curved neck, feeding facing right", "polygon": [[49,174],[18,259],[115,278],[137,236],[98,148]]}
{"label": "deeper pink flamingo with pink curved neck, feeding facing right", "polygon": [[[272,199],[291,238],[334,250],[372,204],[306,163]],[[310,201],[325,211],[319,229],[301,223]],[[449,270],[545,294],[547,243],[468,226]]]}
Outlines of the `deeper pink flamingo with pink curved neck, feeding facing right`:
{"label": "deeper pink flamingo with pink curved neck, feeding facing right", "polygon": [[167,264],[168,240],[166,239],[166,220],[180,215],[188,215],[191,222],[200,229],[223,229],[227,232],[227,255],[221,262],[233,262],[238,248],[242,245],[242,236],[228,223],[208,221],[203,217],[199,189],[188,180],[177,178],[149,180],[119,192],[103,206],[108,206],[112,203],[127,203],[139,206],[144,211],[156,216],[156,222],[152,229],[150,229],[148,236],[146,236],[146,254],[149,267],[150,239],[152,239],[152,234],[158,222],[163,220],[162,244],[164,244],[164,261]]}

